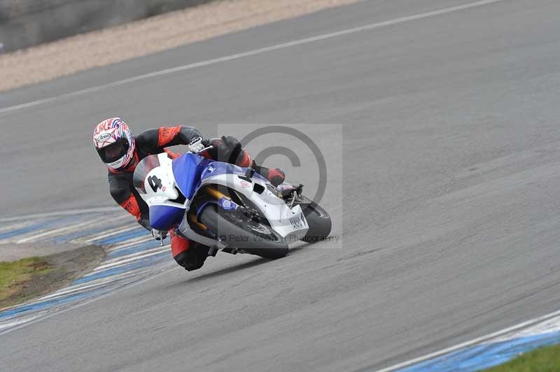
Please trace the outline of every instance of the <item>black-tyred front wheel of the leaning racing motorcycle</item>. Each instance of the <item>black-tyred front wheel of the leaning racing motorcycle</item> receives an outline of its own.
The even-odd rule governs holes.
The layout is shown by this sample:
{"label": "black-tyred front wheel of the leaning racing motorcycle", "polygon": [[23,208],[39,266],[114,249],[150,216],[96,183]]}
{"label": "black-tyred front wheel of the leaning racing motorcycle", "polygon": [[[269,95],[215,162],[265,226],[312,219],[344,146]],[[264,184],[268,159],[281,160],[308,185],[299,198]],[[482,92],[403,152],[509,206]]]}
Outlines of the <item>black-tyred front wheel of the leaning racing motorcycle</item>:
{"label": "black-tyred front wheel of the leaning racing motorcycle", "polygon": [[228,248],[238,248],[251,255],[279,259],[288,254],[288,244],[267,224],[248,220],[235,212],[218,213],[214,204],[208,204],[200,213],[200,222]]}

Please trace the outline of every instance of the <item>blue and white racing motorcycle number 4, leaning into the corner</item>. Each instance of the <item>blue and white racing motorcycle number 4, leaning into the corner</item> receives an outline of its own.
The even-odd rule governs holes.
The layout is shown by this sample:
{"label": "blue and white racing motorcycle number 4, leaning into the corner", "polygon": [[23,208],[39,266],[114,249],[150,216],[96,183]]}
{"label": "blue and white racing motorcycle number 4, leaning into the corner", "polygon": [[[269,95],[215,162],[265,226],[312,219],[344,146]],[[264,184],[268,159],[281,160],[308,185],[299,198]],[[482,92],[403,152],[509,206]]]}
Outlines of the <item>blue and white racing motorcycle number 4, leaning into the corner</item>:
{"label": "blue and white racing motorcycle number 4, leaning into the corner", "polygon": [[[207,150],[206,148],[204,150]],[[274,187],[252,168],[192,152],[171,159],[148,155],[134,170],[134,187],[150,209],[150,224],[231,254],[278,259],[288,244],[321,241],[332,226],[328,213],[302,195],[303,185]]]}

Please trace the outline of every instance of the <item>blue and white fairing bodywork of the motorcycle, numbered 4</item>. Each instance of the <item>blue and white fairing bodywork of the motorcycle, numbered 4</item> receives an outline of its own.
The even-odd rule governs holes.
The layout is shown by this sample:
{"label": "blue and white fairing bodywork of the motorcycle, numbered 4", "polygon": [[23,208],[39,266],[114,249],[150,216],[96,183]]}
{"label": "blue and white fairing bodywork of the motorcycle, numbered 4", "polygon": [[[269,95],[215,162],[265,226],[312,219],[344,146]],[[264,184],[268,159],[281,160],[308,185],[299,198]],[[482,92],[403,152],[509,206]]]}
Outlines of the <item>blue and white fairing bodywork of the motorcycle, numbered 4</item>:
{"label": "blue and white fairing bodywork of the motorcycle, numbered 4", "polygon": [[[224,185],[251,200],[270,226],[280,236],[297,241],[307,233],[309,225],[300,206],[289,208],[280,199],[269,181],[248,169],[233,164],[214,162],[200,155],[184,154],[170,159],[166,153],[149,155],[134,171],[134,187],[150,208],[150,224],[154,229],[168,230],[177,224],[185,236],[193,234],[183,217],[198,189],[207,185]],[[228,209],[232,203],[217,202]],[[201,208],[202,209],[202,208]],[[199,210],[200,212],[200,210]]]}

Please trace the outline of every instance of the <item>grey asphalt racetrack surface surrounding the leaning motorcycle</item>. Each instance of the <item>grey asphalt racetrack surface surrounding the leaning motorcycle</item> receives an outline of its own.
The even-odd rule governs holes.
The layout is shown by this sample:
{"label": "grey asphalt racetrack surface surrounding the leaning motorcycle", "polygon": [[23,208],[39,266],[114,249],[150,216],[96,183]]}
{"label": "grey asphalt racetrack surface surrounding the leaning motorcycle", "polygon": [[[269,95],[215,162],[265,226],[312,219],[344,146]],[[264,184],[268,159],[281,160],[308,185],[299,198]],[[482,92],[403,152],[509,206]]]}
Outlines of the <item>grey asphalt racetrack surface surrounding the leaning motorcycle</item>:
{"label": "grey asphalt racetrack surface surrounding the leaning motorcycle", "polygon": [[[0,106],[464,3],[363,1],[4,93]],[[342,139],[316,132],[344,146],[328,163],[344,206],[322,201],[342,216],[342,243],[170,269],[0,336],[2,370],[379,369],[558,310],[558,14],[555,0],[503,0],[1,114],[4,215],[110,205],[90,144],[109,115],[207,135],[346,124]]]}

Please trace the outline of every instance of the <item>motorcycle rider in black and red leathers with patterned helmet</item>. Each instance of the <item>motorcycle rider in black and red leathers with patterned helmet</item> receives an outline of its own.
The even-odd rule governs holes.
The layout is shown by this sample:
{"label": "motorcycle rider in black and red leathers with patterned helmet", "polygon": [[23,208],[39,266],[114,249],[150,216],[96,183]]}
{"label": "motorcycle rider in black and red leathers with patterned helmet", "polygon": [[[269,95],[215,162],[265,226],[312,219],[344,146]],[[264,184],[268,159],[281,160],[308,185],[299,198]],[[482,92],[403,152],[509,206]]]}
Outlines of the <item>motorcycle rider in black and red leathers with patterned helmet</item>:
{"label": "motorcycle rider in black and red leathers with patterned helmet", "polygon": [[[285,178],[280,169],[267,169],[257,166],[241,143],[232,136],[222,136],[204,140],[200,131],[186,125],[148,129],[138,136],[120,117],[106,119],[94,129],[93,144],[102,162],[109,169],[109,192],[113,199],[136,217],[139,224],[150,230],[154,238],[160,240],[167,236],[165,231],[157,231],[150,226],[149,209],[146,202],[132,185],[134,169],[141,159],[148,155],[166,152],[172,159],[179,157],[167,147],[187,145],[188,150],[208,159],[229,162],[242,167],[252,167],[267,178],[273,185],[283,183]],[[204,148],[213,146],[209,150]],[[204,151],[202,151],[204,150]],[[172,255],[175,261],[186,270],[200,269],[208,256],[208,247],[191,242],[176,229],[170,229]]]}

